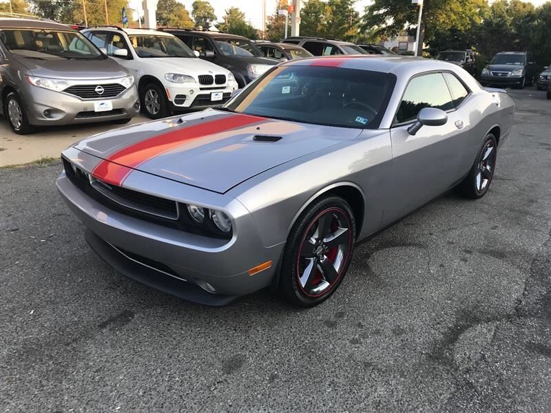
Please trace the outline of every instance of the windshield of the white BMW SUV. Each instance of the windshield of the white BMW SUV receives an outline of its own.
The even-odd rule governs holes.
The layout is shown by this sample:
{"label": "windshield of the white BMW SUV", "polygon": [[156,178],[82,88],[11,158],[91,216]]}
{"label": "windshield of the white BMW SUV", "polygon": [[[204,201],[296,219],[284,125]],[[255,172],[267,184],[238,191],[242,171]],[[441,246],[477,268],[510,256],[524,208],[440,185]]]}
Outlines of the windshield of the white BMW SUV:
{"label": "windshield of the white BMW SUV", "polygon": [[196,57],[183,41],[173,36],[138,34],[128,39],[140,57]]}

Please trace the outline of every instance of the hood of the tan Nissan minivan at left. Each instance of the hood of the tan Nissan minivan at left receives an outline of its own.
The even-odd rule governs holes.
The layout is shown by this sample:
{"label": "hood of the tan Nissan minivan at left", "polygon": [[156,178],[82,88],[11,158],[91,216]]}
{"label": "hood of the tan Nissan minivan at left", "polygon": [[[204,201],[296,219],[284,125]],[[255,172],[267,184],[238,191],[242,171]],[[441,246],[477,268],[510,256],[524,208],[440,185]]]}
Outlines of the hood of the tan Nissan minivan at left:
{"label": "hood of the tan Nissan minivan at left", "polygon": [[32,76],[64,78],[71,80],[97,80],[128,76],[128,71],[112,59],[67,60],[55,58],[48,60],[31,59],[16,56]]}

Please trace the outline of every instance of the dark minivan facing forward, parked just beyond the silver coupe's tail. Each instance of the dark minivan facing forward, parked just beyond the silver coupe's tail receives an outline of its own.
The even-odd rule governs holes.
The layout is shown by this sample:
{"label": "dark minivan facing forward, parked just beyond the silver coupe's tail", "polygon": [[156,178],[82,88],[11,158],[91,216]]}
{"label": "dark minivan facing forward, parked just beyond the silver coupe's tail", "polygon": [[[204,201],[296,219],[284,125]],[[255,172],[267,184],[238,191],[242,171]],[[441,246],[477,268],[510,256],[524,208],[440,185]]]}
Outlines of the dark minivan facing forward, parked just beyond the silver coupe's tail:
{"label": "dark minivan facing forward, parked just beyond the silver coupe's tail", "polygon": [[527,52],[501,52],[484,67],[480,83],[484,86],[523,89],[534,84],[536,69],[536,61]]}

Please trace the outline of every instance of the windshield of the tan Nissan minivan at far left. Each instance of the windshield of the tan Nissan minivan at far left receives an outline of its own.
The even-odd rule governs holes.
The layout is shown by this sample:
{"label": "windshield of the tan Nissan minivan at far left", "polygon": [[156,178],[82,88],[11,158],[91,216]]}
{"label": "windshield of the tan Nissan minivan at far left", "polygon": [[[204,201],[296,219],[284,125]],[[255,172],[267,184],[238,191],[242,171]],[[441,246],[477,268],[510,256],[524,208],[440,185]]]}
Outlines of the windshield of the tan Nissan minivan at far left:
{"label": "windshield of the tan Nissan minivan at far left", "polygon": [[79,32],[2,29],[0,39],[10,52],[28,59],[107,59]]}

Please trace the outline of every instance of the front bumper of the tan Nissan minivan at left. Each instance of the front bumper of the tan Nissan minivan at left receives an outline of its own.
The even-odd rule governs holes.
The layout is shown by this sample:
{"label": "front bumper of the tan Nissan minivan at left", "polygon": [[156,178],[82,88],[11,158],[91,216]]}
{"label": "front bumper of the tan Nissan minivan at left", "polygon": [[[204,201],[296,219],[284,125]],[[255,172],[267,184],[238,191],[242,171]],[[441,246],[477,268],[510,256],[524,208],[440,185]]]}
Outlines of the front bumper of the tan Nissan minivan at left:
{"label": "front bumper of the tan Nissan minivan at left", "polygon": [[[113,109],[107,112],[94,112],[94,100],[83,100],[72,94],[55,92],[33,85],[22,89],[31,125],[69,125],[76,123],[105,122],[133,118],[140,111],[138,89],[135,85],[110,100]],[[44,111],[50,116],[46,117]]]}

